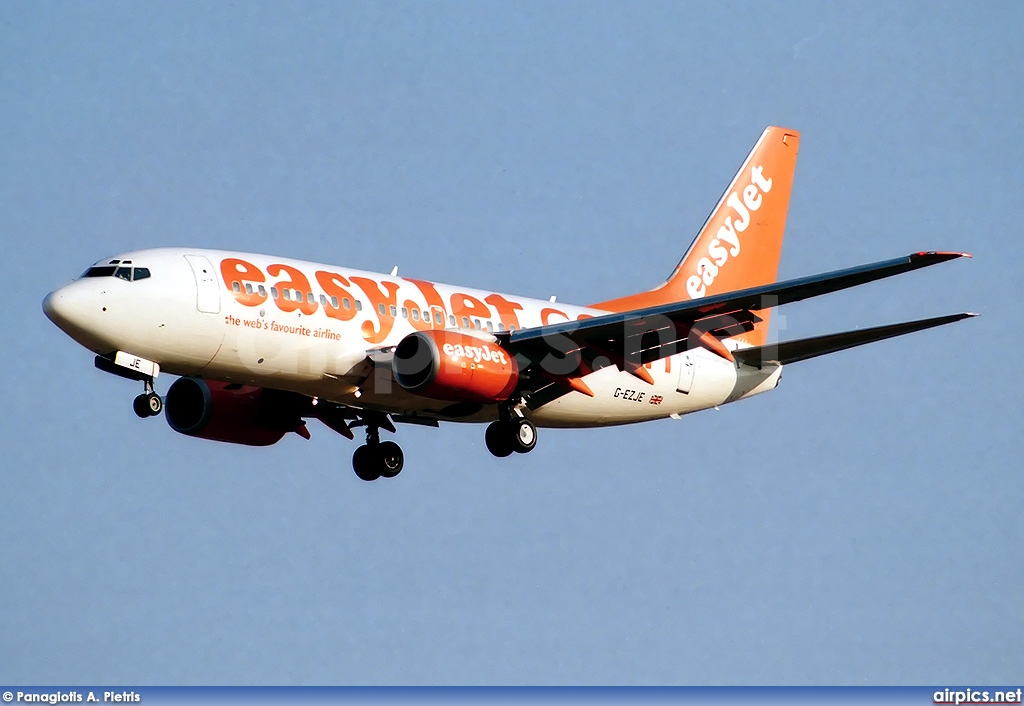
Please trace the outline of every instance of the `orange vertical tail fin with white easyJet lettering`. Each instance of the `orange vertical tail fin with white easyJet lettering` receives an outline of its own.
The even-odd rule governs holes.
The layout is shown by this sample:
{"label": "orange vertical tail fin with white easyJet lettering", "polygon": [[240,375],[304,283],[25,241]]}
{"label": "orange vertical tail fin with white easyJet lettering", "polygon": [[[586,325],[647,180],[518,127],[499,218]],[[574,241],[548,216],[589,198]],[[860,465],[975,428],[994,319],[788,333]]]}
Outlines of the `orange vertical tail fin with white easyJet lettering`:
{"label": "orange vertical tail fin with white easyJet lettering", "polygon": [[[594,304],[627,312],[770,284],[778,274],[800,133],[769,127],[732,178],[683,259],[649,292]],[[768,340],[768,316],[739,336],[751,345]]]}

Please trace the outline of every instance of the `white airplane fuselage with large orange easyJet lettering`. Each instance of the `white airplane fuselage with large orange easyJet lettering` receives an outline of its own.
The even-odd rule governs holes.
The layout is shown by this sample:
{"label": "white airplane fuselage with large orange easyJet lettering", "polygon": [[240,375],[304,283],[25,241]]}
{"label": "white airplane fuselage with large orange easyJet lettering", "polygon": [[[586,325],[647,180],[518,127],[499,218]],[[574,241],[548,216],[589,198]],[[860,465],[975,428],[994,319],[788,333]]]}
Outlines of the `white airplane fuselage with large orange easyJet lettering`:
{"label": "white airplane fuselage with large orange easyJet lettering", "polygon": [[[451,403],[407,392],[375,373],[368,354],[373,358],[417,330],[487,337],[605,314],[250,253],[161,248],[113,261],[145,267],[150,276],[83,277],[44,302],[55,323],[97,354],[125,351],[175,375],[441,420],[495,419],[497,405],[450,414]],[[528,416],[540,426],[600,426],[686,414],[772,389],[781,366],[759,370],[697,347],[647,370],[653,384],[602,368],[584,378],[594,397],[570,391]]]}

